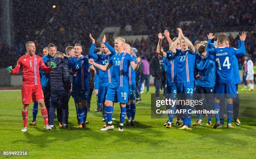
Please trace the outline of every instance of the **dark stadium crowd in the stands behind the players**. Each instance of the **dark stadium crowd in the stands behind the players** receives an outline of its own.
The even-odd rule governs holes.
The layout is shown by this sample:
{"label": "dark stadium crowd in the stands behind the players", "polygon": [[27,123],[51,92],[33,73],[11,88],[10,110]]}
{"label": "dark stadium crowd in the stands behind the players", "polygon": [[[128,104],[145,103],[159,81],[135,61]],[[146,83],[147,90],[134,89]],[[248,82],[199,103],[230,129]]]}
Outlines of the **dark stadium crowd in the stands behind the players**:
{"label": "dark stadium crowd in the stands behind the players", "polygon": [[[188,3],[190,5],[185,5]],[[122,7],[123,4],[127,6],[124,8]],[[52,16],[52,18],[48,17],[48,21],[45,21],[44,25],[37,26],[35,21],[34,25],[37,29],[31,30],[28,28],[30,34],[27,36],[22,34],[24,33],[22,30],[26,28],[26,26],[23,26],[25,24],[20,23],[22,30],[15,35],[16,40],[12,47],[8,49],[6,44],[0,43],[0,52],[2,52],[0,64],[2,65],[2,61],[4,61],[3,59],[7,54],[8,56],[12,54],[15,57],[15,60],[10,61],[10,64],[15,63],[18,57],[26,51],[22,47],[23,43],[29,40],[36,43],[38,50],[46,47],[49,41],[57,45],[58,50],[61,51],[65,49],[66,45],[74,45],[75,43],[82,43],[85,48],[89,48],[88,33],[96,33],[94,36],[97,37],[101,30],[108,26],[121,27],[121,34],[123,35],[149,35],[147,39],[130,41],[130,43],[138,48],[139,53],[146,54],[148,61],[150,61],[154,56],[154,48],[158,41],[156,32],[167,29],[170,31],[170,36],[175,37],[172,28],[180,27],[179,23],[182,21],[192,21],[192,23],[183,24],[182,29],[184,35],[191,39],[193,43],[196,40],[207,40],[205,35],[209,32],[220,30],[240,31],[243,28],[253,31],[250,29],[255,25],[255,19],[253,19],[255,4],[255,0],[251,3],[242,0],[229,2],[218,0],[212,3],[207,0],[200,0],[200,3],[190,0],[185,2],[179,0],[172,3],[168,1],[158,3],[154,0],[127,0],[126,3],[122,2],[122,5],[114,1],[79,2],[70,0],[59,4],[55,10],[51,10],[48,16]],[[220,8],[220,10],[215,8]],[[174,13],[179,15],[179,18],[170,16]],[[222,13],[225,18],[220,18],[218,13]],[[19,19],[18,16],[19,14],[17,14],[17,20]],[[125,31],[126,25],[132,26],[131,33]],[[254,59],[256,56],[255,31],[248,33],[247,37],[246,50]],[[237,44],[233,43],[237,40],[236,37],[229,38],[231,45],[237,47]],[[168,43],[164,42],[163,47],[168,48]],[[84,50],[84,53],[88,54],[88,49]]]}

